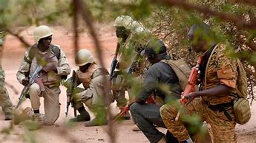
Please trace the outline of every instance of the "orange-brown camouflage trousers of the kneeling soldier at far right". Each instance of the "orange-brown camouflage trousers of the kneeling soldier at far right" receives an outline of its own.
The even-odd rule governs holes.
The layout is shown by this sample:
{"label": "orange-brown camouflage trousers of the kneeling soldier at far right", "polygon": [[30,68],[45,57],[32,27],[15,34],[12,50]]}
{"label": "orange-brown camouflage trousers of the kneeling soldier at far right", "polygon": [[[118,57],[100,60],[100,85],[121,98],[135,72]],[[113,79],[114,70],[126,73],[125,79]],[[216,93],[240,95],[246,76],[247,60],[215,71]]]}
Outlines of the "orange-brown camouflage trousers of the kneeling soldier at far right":
{"label": "orange-brown camouflage trousers of the kneeling soldier at far right", "polygon": [[223,112],[211,110],[201,97],[196,98],[183,108],[180,119],[176,122],[175,117],[177,116],[179,108],[180,102],[171,102],[160,108],[160,114],[165,126],[180,142],[190,137],[184,123],[189,125],[196,124],[194,122],[196,119],[200,120],[200,122],[206,121],[211,125],[214,143],[237,142],[237,137],[234,133],[236,122],[234,121],[235,118],[232,107],[226,108],[226,111],[233,119],[233,121],[230,121]]}

